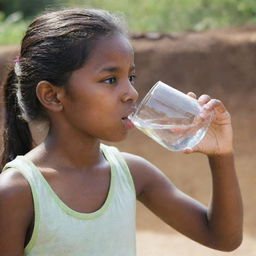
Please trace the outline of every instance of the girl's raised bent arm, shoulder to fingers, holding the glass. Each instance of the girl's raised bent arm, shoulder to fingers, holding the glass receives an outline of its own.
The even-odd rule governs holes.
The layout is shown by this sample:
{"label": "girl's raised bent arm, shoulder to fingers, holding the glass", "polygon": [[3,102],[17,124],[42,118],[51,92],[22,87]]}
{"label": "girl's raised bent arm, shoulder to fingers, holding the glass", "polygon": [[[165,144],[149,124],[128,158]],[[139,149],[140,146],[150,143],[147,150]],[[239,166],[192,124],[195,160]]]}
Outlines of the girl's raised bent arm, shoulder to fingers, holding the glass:
{"label": "girl's raised bent arm, shoulder to fingers, holding the glass", "polygon": [[[208,155],[213,192],[206,207],[178,190],[155,166],[125,154],[138,199],[167,224],[208,247],[230,251],[242,241],[242,200],[236,177],[230,115],[220,101],[200,97],[215,116],[203,141],[185,153]],[[200,177],[197,177],[200,179]]]}

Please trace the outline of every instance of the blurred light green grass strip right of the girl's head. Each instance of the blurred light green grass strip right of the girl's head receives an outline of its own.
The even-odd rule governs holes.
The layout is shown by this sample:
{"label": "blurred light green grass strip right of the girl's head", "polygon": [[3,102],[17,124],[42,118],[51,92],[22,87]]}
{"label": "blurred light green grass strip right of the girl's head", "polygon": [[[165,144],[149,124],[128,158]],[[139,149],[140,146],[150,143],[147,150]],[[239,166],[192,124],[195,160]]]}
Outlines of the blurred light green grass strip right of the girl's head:
{"label": "blurred light green grass strip right of the girl's head", "polygon": [[203,30],[256,23],[255,0],[66,0],[121,11],[133,31]]}

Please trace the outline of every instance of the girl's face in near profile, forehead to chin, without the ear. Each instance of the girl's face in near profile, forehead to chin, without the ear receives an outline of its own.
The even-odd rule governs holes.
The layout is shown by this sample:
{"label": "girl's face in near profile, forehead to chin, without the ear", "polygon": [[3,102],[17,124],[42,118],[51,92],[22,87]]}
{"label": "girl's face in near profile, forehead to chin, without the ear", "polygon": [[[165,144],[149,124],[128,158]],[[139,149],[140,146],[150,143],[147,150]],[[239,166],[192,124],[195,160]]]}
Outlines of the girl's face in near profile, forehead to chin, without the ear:
{"label": "girl's face in near profile, forehead to chin, without the ear", "polygon": [[122,35],[96,42],[85,65],[74,71],[63,101],[72,131],[107,141],[124,139],[138,93],[134,89],[134,53]]}

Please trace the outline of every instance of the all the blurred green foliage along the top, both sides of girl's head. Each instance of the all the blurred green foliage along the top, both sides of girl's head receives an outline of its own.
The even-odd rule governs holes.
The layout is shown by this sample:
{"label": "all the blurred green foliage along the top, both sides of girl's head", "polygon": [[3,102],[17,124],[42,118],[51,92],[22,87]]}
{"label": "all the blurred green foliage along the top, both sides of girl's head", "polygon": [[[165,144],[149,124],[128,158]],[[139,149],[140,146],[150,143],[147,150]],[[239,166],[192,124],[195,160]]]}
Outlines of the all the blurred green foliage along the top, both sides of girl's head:
{"label": "all the blurred green foliage along the top, both sides of girl's head", "polygon": [[[0,44],[17,42],[31,17],[45,8],[89,7],[123,13],[130,31],[204,30],[256,24],[256,0],[0,0]],[[10,18],[12,17],[12,18]],[[14,19],[14,20],[13,20]],[[12,22],[10,22],[12,20]]]}

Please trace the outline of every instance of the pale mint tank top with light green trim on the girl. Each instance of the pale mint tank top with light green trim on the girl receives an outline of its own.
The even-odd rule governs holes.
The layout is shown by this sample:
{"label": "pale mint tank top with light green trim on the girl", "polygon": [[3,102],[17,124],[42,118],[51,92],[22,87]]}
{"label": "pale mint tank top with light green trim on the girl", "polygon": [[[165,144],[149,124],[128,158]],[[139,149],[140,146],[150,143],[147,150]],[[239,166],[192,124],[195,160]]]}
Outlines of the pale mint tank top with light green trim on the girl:
{"label": "pale mint tank top with light green trim on the girl", "polygon": [[26,256],[135,256],[136,194],[120,152],[101,144],[111,166],[107,198],[100,209],[80,213],[69,208],[52,190],[38,168],[23,156],[9,162],[29,182],[35,223]]}

